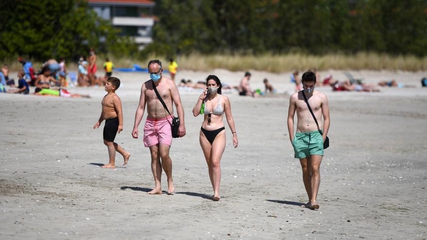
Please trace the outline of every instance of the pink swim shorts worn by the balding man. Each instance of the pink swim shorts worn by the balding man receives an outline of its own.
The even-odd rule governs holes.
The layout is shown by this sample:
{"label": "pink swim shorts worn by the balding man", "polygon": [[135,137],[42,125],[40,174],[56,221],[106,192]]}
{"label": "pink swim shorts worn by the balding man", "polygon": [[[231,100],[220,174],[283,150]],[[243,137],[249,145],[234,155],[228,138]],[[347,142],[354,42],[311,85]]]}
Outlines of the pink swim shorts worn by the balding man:
{"label": "pink swim shorts worn by the balding man", "polygon": [[147,118],[144,125],[144,146],[150,147],[156,144],[172,144],[171,124],[173,115],[164,118]]}

